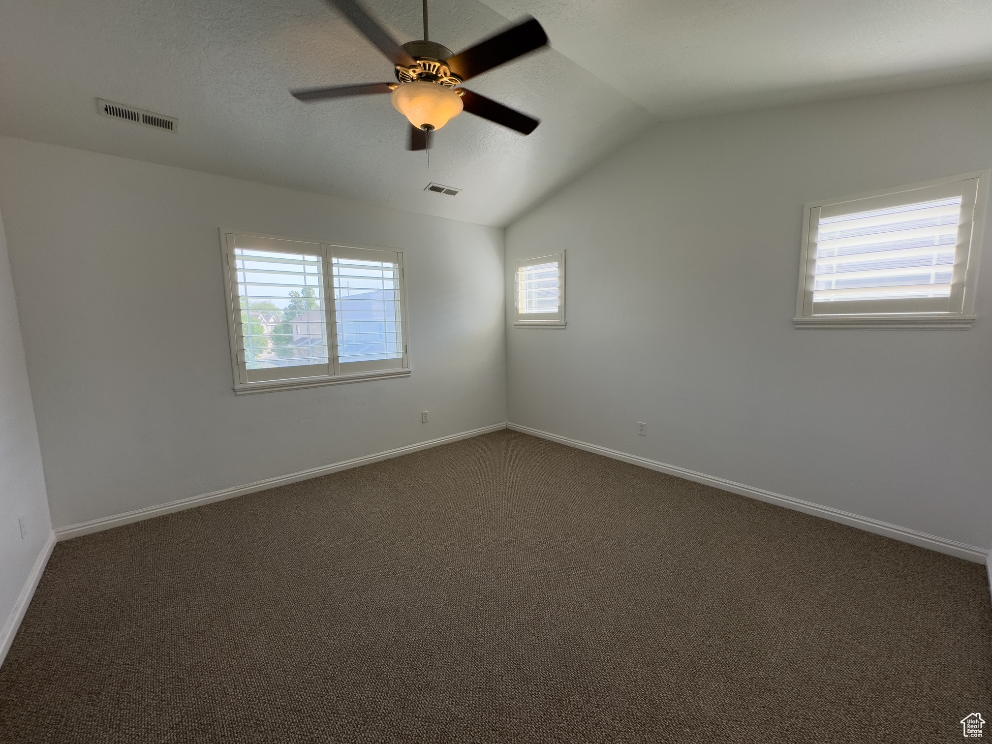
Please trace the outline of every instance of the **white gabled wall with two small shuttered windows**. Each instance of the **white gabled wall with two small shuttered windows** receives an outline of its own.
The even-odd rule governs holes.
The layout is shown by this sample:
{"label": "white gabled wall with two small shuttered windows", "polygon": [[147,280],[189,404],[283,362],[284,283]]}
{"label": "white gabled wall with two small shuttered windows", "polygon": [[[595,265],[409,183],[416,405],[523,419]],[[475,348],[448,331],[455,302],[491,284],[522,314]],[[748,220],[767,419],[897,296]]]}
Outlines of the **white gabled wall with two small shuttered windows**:
{"label": "white gabled wall with two small shuttered windows", "polygon": [[508,312],[516,259],[568,275],[509,420],[987,546],[992,225],[970,330],[792,317],[806,201],[990,166],[988,82],[661,125],[507,228]]}

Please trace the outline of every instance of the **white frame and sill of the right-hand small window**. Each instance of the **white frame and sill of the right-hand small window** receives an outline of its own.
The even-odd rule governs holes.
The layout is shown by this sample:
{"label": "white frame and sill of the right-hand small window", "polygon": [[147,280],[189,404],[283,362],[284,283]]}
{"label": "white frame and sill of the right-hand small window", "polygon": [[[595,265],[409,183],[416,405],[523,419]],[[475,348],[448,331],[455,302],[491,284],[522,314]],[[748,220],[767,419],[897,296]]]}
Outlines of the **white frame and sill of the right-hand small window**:
{"label": "white frame and sill of the right-hand small window", "polygon": [[[796,298],[796,315],[793,318],[795,326],[797,328],[945,328],[950,330],[967,330],[971,327],[971,323],[977,317],[974,314],[975,290],[978,282],[978,265],[981,258],[982,232],[985,223],[985,209],[988,202],[990,177],[992,177],[992,171],[972,171],[970,173],[947,176],[941,179],[933,179],[906,186],[880,188],[875,191],[867,191],[850,196],[807,202],[803,208],[803,244],[800,253],[799,289]],[[968,246],[967,265],[963,267],[963,282],[958,281],[951,285],[951,298],[948,301],[956,310],[812,313],[811,284],[813,281],[812,270],[815,267],[815,259],[810,255],[810,247],[815,244],[814,233],[818,227],[820,208],[842,204],[847,201],[882,196],[892,196],[893,201],[898,202],[901,199],[897,198],[897,196],[907,191],[932,186],[951,185],[972,179],[977,180],[977,186],[974,194],[974,211],[972,212],[971,239]],[[965,197],[967,198],[967,194],[965,194]],[[955,261],[955,274],[959,270],[961,270],[961,267]]]}

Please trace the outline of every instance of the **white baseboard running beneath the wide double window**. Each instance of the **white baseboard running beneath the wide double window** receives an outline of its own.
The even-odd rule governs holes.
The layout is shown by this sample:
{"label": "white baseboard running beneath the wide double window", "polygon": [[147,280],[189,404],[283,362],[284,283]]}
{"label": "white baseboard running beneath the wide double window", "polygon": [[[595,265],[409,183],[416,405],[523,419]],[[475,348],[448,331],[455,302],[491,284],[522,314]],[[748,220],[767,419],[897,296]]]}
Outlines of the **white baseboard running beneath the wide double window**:
{"label": "white baseboard running beneath the wide double window", "polygon": [[275,478],[257,480],[254,483],[248,483],[243,486],[224,488],[220,491],[204,493],[201,496],[189,496],[185,499],[179,499],[178,501],[170,501],[166,504],[159,504],[158,506],[149,506],[144,509],[136,509],[133,512],[114,514],[110,517],[101,517],[100,519],[90,520],[89,522],[80,522],[77,525],[68,525],[66,527],[60,527],[55,531],[55,535],[58,540],[68,540],[70,538],[78,538],[82,535],[89,535],[90,533],[100,532],[101,530],[110,530],[114,527],[129,525],[132,522],[140,522],[141,520],[151,519],[153,517],[161,517],[163,514],[172,514],[173,512],[183,511],[184,509],[192,509],[193,507],[196,506],[210,504],[214,501],[223,501],[224,499],[232,499],[235,496],[244,496],[245,494],[248,493],[255,493],[256,491],[264,491],[268,488],[275,488],[276,486],[284,486],[287,485],[288,483],[296,483],[297,481],[300,480],[315,478],[319,475],[329,475],[330,473],[336,473],[339,470],[347,470],[350,467],[358,467],[359,465],[368,465],[372,462],[378,462],[379,460],[385,460],[391,457],[399,457],[400,455],[410,454],[411,452],[417,452],[420,451],[421,449],[429,449],[430,447],[439,446],[441,444],[447,444],[452,441],[458,441],[459,439],[467,439],[472,436],[478,436],[479,434],[489,434],[490,432],[499,432],[504,429],[506,429],[505,422],[501,424],[493,424],[488,427],[482,427],[480,429],[473,429],[468,432],[460,432],[459,434],[449,434],[447,436],[440,436],[436,439],[420,441],[416,444],[408,444],[406,446],[397,447],[396,449],[387,449],[384,452],[376,452],[375,454],[367,454],[362,457],[354,457],[350,460],[333,462],[329,465],[312,467],[310,468],[310,470],[301,470],[300,472],[290,473],[289,475],[280,475]]}

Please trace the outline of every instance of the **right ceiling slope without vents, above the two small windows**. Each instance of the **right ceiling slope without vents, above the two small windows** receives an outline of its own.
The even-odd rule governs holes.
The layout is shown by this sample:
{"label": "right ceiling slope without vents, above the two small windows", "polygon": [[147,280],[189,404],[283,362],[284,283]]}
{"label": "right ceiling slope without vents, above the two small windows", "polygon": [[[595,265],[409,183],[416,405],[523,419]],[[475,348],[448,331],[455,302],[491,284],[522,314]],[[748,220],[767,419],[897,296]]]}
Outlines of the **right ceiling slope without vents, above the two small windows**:
{"label": "right ceiling slope without vents, above the two small windows", "polygon": [[486,0],[663,119],[992,77],[989,0]]}

